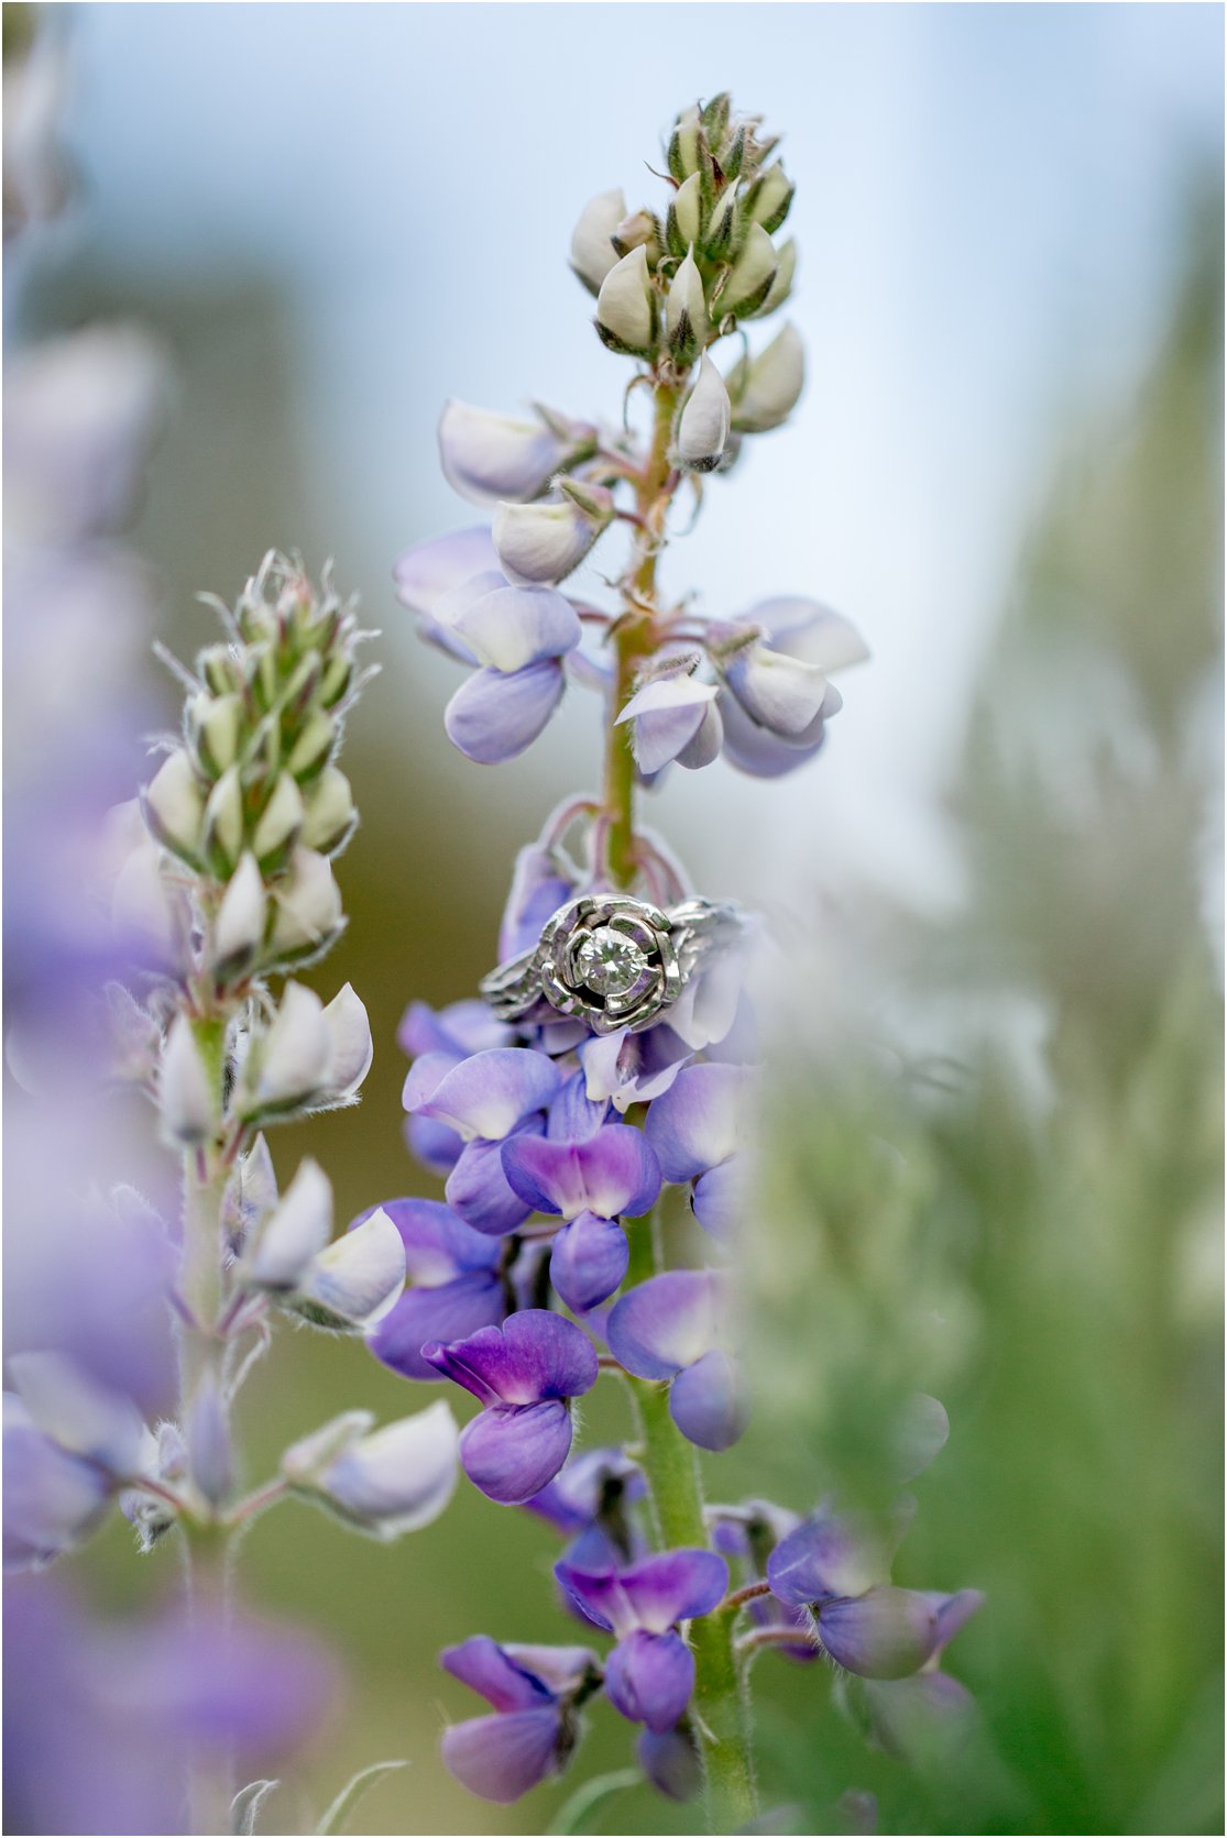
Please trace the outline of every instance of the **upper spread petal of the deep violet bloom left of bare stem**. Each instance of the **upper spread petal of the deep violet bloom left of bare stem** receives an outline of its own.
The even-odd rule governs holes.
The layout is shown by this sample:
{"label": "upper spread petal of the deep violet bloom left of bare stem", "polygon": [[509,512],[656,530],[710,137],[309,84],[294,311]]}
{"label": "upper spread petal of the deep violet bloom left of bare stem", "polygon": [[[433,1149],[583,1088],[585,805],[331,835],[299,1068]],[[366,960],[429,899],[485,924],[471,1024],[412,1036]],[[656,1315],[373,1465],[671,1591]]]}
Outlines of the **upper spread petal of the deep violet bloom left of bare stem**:
{"label": "upper spread petal of the deep violet bloom left of bare stem", "polygon": [[[589,1336],[548,1309],[522,1309],[502,1327],[484,1327],[453,1345],[429,1347],[425,1356],[436,1371],[486,1404],[581,1397],[592,1390],[598,1373]],[[546,1474],[545,1480],[552,1478]]]}

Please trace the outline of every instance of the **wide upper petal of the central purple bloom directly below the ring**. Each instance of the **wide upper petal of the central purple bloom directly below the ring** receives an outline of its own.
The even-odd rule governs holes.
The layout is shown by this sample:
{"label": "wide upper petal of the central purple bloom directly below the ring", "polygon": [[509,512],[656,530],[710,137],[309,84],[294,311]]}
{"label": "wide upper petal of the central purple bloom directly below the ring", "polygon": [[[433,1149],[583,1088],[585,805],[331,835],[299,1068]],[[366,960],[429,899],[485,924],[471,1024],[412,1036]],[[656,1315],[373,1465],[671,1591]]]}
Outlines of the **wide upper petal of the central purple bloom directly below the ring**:
{"label": "wide upper petal of the central purple bloom directly below the ring", "polygon": [[660,1193],[651,1145],[627,1123],[609,1123],[581,1143],[521,1136],[504,1143],[502,1169],[522,1200],[563,1219],[579,1213],[638,1219]]}

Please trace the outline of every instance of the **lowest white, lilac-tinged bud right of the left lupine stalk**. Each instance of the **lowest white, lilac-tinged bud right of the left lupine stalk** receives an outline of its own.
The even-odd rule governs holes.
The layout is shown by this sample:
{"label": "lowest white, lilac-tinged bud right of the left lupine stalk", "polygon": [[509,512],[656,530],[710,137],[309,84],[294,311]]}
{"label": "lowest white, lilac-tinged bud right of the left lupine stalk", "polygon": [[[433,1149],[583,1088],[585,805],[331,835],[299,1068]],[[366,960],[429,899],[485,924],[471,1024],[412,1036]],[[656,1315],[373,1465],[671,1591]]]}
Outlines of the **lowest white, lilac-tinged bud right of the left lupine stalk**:
{"label": "lowest white, lilac-tinged bud right of the left lupine stalk", "polygon": [[294,1443],[281,1458],[291,1487],[373,1538],[397,1538],[440,1516],[458,1465],[456,1419],[445,1402],[364,1435],[359,1412]]}

